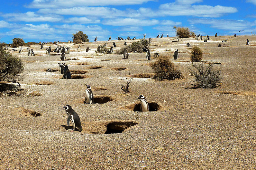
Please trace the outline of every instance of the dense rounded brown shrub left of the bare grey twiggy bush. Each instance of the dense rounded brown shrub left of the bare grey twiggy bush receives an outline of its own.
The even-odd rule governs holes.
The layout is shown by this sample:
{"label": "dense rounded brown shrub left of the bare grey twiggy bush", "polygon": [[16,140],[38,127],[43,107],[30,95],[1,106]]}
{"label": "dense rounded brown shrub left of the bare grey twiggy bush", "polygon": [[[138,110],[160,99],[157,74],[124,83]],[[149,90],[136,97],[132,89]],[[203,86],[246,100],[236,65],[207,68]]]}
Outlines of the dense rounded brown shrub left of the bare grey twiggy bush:
{"label": "dense rounded brown shrub left of the bare grey twiggy bush", "polygon": [[176,78],[182,78],[181,71],[175,66],[168,56],[160,56],[150,66],[154,70],[154,79],[162,81],[164,79],[174,80]]}

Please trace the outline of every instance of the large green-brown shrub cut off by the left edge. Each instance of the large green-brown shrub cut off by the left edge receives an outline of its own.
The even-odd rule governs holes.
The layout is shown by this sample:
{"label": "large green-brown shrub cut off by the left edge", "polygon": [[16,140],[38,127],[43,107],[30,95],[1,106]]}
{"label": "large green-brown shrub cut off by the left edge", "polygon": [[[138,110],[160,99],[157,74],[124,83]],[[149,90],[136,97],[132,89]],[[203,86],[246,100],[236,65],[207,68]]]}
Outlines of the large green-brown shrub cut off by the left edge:
{"label": "large green-brown shrub cut off by the left edge", "polygon": [[24,70],[22,60],[5,52],[2,47],[0,44],[0,81],[16,82]]}

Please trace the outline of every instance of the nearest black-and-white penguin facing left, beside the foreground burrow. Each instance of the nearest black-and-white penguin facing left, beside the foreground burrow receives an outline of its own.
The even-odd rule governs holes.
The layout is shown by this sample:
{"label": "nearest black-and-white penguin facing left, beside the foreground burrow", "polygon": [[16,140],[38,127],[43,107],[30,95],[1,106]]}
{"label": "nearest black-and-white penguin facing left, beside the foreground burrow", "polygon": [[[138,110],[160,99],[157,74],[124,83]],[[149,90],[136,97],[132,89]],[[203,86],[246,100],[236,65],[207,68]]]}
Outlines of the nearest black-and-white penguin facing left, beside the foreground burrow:
{"label": "nearest black-and-white penguin facing left, beside the foreground burrow", "polygon": [[67,126],[70,126],[70,123],[73,126],[73,130],[78,129],[82,131],[81,121],[77,113],[72,109],[70,105],[63,106],[63,108],[66,110],[67,114]]}

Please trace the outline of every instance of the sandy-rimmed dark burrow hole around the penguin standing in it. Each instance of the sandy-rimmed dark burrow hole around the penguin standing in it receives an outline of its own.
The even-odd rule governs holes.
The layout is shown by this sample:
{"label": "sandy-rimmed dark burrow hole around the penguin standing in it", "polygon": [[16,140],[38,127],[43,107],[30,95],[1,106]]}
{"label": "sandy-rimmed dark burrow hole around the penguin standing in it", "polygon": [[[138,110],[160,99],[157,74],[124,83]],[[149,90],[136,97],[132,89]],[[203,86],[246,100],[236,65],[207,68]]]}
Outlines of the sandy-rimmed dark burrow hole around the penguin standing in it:
{"label": "sandy-rimmed dark burrow hole around the penguin standing in it", "polygon": [[[149,111],[165,110],[164,107],[157,102],[148,101],[148,105],[149,105]],[[140,111],[140,101],[137,101],[130,105],[126,105],[121,109],[126,109],[131,111]]]}

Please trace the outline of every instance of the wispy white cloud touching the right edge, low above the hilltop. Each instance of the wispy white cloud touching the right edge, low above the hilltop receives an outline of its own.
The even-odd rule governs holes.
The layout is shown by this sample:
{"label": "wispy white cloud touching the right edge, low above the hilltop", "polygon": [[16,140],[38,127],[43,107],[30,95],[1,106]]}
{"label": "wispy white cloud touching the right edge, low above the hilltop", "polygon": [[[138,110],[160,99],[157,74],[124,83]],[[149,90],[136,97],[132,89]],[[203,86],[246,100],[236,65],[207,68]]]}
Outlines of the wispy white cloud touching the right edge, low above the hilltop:
{"label": "wispy white cloud touching the right edge, low above the hilltop", "polygon": [[217,20],[217,19],[193,19],[189,20],[191,24],[209,24],[212,28],[221,30],[239,31],[252,26],[256,26],[255,22],[249,22],[246,20]]}

